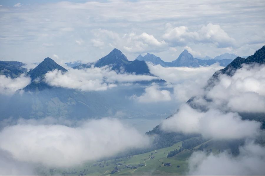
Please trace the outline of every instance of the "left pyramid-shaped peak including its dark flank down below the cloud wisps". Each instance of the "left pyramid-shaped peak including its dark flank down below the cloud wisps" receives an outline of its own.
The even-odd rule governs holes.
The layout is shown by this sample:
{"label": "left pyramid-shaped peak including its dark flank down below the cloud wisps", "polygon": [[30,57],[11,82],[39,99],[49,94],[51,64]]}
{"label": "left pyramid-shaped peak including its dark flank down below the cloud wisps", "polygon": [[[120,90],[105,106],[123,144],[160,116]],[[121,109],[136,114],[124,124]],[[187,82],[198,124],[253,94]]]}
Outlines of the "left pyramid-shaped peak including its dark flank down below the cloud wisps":
{"label": "left pyramid-shaped peak including its dark flank down below the cloud wisps", "polygon": [[67,70],[64,67],[58,65],[51,58],[49,57],[45,58],[37,67],[35,67],[33,70],[27,73],[31,77],[32,82],[29,85],[27,85],[24,88],[24,90],[28,92],[28,91],[41,91],[44,89],[50,89],[51,86],[49,86],[46,82],[44,82],[43,79],[44,75],[47,72],[55,69],[67,72]]}

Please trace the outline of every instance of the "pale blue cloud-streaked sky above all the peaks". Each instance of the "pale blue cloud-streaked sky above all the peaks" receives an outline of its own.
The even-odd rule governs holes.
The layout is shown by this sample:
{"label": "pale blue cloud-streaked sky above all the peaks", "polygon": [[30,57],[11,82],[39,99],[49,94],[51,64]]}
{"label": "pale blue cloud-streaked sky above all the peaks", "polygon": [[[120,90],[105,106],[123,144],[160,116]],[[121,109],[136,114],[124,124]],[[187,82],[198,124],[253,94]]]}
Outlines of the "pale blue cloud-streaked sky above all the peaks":
{"label": "pale blue cloud-streaked sky above all the peaks", "polygon": [[265,1],[0,1],[0,60],[92,62],[252,54],[265,45]]}

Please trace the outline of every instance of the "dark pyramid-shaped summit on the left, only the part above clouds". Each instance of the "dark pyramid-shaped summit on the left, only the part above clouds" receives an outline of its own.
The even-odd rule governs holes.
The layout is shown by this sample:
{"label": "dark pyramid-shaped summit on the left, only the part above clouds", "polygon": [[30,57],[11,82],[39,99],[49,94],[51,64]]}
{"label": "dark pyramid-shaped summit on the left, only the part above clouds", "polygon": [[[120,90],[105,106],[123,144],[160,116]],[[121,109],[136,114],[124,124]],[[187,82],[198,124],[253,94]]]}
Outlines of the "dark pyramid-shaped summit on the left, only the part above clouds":
{"label": "dark pyramid-shaped summit on the left, only the part above clouds", "polygon": [[36,78],[43,78],[43,76],[47,72],[55,70],[55,69],[67,72],[67,70],[64,67],[58,65],[51,58],[46,57],[44,61],[42,61],[37,67],[29,71],[27,74],[31,77],[31,80],[33,81]]}

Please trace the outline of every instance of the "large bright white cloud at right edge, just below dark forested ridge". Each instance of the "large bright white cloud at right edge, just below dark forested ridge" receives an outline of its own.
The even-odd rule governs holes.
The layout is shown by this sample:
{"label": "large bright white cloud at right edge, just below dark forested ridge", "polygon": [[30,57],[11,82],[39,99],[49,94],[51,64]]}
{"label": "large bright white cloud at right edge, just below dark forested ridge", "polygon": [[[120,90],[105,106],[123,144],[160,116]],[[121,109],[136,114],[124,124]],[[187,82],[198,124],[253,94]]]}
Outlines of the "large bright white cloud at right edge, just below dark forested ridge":
{"label": "large bright white cloud at right edge, just below dark forested ridge", "polygon": [[237,112],[265,112],[265,67],[243,65],[235,74],[220,75],[220,82],[206,92],[210,106],[225,106]]}

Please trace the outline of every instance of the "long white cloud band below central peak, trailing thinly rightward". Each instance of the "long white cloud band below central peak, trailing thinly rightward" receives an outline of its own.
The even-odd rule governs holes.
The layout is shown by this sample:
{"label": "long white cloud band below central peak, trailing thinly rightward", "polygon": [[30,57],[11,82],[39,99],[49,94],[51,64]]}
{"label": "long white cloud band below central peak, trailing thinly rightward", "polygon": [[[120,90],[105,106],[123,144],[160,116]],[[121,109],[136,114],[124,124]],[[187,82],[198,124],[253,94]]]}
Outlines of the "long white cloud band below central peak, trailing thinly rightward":
{"label": "long white cloud band below central peak, trailing thinly rightward", "polygon": [[110,67],[91,67],[77,70],[69,69],[62,73],[60,70],[53,70],[45,75],[45,81],[57,87],[79,89],[81,91],[100,91],[115,87],[117,82],[150,81],[157,77],[149,75],[120,74],[111,70]]}

